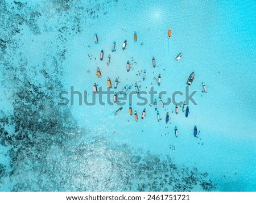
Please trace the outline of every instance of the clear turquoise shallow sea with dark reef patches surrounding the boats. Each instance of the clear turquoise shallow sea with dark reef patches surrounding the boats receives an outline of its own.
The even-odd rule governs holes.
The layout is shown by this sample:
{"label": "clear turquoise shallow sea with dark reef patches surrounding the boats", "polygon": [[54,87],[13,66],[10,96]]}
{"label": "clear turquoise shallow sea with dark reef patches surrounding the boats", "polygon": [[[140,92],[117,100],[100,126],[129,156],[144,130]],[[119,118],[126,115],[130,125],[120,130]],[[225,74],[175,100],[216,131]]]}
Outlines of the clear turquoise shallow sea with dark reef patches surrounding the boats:
{"label": "clear turquoise shallow sea with dark reef patches surrounding the boats", "polygon": [[[1,190],[255,191],[255,7],[253,1],[2,3]],[[131,57],[137,65],[127,73]],[[142,82],[137,74],[144,69]],[[157,122],[154,108],[137,107],[137,100],[139,117],[147,109],[138,122],[128,105],[117,116],[116,105],[57,106],[60,90],[89,91],[94,82],[106,88],[108,77],[112,83],[119,77],[119,90],[138,82],[141,90],[184,91],[192,71],[198,105],[189,105],[188,118],[181,108],[171,113],[173,104],[159,107],[162,119],[170,112],[171,124]]]}

